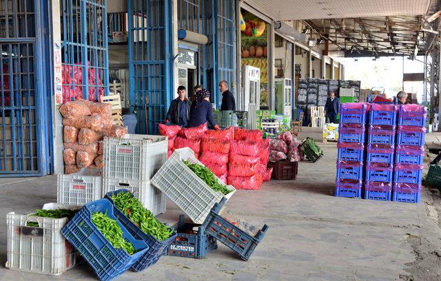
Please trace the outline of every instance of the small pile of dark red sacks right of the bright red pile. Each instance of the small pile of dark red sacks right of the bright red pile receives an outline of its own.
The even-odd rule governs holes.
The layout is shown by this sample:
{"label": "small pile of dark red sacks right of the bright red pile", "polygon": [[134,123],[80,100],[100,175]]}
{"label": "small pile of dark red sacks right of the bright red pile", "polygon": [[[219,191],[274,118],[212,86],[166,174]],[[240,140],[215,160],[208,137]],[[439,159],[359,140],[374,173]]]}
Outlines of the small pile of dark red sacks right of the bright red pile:
{"label": "small pile of dark red sacks right of the bright red pile", "polygon": [[299,162],[298,141],[290,132],[285,132],[277,139],[269,140],[269,161],[276,162],[288,160],[289,162]]}

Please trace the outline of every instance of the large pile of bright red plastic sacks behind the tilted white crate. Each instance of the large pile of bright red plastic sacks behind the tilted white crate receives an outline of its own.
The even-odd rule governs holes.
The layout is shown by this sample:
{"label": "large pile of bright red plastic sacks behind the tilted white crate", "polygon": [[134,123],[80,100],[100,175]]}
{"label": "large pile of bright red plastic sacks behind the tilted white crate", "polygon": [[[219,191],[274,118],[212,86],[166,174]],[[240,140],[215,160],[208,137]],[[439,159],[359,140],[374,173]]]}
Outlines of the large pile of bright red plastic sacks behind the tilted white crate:
{"label": "large pile of bright red plastic sacks behind the tilted white crate", "polygon": [[159,132],[168,136],[169,157],[174,149],[189,147],[213,174],[236,189],[259,189],[271,178],[272,168],[267,169],[269,140],[263,140],[259,130],[208,130],[207,124],[181,129],[160,124]]}

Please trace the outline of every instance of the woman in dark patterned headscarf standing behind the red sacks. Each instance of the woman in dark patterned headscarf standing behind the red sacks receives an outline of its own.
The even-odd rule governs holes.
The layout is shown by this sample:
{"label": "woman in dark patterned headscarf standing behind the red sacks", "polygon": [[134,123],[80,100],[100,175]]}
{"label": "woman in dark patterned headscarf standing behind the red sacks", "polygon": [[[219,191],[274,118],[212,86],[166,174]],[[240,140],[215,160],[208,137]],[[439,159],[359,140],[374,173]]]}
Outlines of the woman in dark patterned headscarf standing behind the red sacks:
{"label": "woman in dark patterned headscarf standing behind the red sacks", "polygon": [[209,92],[202,89],[194,96],[196,101],[190,107],[190,120],[187,127],[198,127],[198,125],[208,122],[214,129],[219,129],[213,118],[213,106],[209,102]]}

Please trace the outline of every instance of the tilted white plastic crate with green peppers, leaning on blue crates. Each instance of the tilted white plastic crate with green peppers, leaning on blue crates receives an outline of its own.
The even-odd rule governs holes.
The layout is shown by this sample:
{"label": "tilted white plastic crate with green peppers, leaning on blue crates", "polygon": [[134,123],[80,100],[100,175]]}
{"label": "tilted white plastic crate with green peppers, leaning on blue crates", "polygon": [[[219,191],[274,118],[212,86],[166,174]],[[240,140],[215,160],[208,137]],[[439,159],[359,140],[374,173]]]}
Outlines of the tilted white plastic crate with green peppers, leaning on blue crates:
{"label": "tilted white plastic crate with green peppers, leaning on blue crates", "polygon": [[[204,166],[188,147],[176,149],[167,162],[152,178],[152,184],[161,189],[193,222],[202,224],[209,215],[214,203],[220,202],[223,197],[231,198],[236,189],[227,185],[231,190],[227,195],[214,191],[196,176],[183,160]],[[223,184],[221,180],[219,183]]]}

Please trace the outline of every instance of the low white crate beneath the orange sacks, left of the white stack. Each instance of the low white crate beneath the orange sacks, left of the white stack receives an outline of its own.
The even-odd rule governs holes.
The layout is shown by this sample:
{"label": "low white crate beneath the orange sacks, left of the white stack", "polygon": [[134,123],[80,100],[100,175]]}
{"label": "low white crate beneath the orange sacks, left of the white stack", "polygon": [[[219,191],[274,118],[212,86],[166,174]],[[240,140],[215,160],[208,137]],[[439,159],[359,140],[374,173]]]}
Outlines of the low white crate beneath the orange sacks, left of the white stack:
{"label": "low white crate beneath the orange sacks, left of the white stack", "polygon": [[57,176],[57,202],[83,206],[87,202],[103,198],[101,169],[81,169],[76,174]]}

